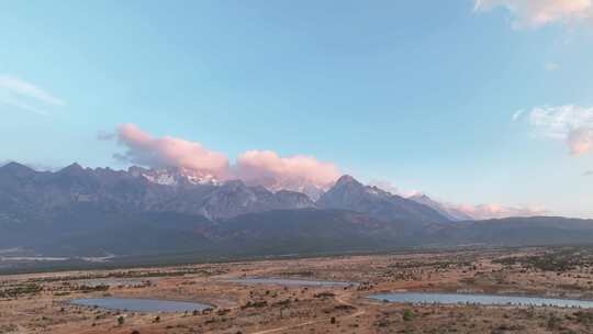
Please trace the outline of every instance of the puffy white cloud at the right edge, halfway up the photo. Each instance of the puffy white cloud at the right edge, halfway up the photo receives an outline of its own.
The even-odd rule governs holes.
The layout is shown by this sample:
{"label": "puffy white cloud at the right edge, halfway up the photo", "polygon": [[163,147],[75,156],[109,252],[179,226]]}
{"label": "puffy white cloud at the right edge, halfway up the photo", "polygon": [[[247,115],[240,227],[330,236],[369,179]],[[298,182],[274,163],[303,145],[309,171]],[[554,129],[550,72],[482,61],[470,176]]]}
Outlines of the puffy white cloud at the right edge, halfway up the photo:
{"label": "puffy white cloud at the right edge, halfway up the photo", "polygon": [[593,148],[593,107],[536,107],[529,112],[528,123],[537,134],[564,141],[572,155]]}

